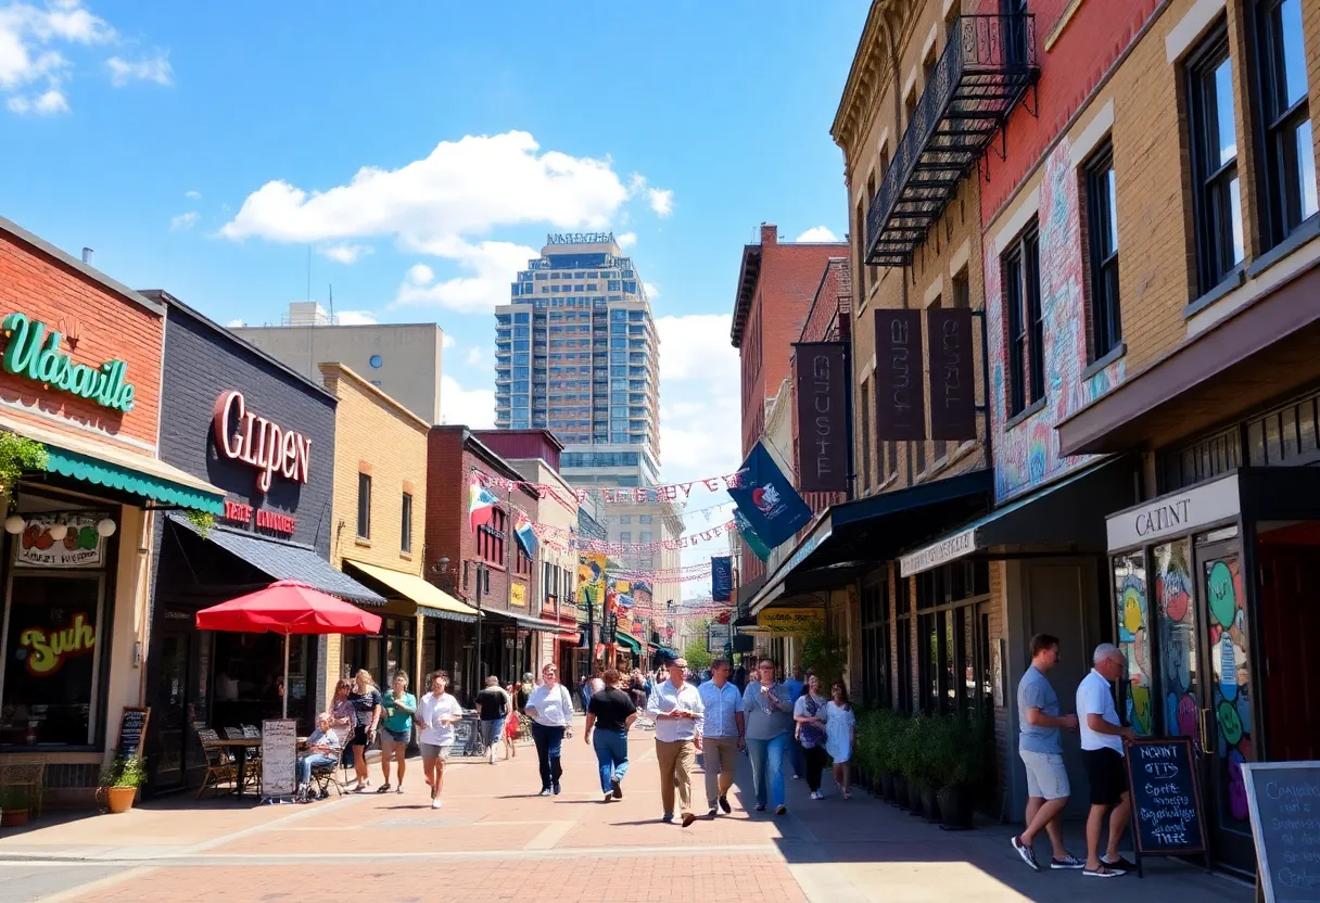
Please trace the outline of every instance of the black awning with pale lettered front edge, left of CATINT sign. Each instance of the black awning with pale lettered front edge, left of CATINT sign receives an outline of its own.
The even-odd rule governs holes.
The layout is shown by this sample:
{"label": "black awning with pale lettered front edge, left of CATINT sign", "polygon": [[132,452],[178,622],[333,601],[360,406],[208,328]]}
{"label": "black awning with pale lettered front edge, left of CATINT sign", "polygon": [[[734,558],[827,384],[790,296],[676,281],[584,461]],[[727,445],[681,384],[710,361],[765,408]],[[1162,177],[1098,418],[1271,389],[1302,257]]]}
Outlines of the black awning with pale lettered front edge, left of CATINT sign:
{"label": "black awning with pale lettered front edge, left of CATINT sign", "polygon": [[1105,551],[1105,516],[1135,498],[1135,462],[1105,458],[899,557],[911,577],[968,557]]}

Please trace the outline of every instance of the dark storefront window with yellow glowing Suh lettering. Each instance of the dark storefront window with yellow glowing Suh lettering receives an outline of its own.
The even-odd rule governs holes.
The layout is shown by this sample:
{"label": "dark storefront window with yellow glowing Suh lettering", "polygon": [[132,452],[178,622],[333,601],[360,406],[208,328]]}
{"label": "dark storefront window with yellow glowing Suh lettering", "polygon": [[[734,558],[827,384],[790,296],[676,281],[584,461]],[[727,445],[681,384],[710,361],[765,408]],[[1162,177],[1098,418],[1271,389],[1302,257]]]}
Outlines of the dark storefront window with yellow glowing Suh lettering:
{"label": "dark storefront window with yellow glowing Suh lettering", "polygon": [[0,743],[95,741],[103,598],[100,574],[11,577]]}

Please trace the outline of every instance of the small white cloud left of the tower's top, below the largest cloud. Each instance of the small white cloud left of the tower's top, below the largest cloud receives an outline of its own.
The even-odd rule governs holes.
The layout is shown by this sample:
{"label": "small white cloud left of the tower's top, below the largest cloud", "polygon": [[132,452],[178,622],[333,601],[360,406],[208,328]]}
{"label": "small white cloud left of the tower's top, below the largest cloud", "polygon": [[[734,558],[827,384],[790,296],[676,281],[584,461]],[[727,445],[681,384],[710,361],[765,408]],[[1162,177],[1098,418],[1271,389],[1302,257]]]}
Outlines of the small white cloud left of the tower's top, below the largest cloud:
{"label": "small white cloud left of the tower's top, below the largest cloud", "polygon": [[437,244],[433,251],[458,263],[471,276],[436,280],[436,271],[426,264],[413,264],[395,294],[395,308],[445,308],[455,313],[488,313],[498,304],[508,304],[508,285],[517,271],[537,251],[508,242],[469,244],[461,239]]}

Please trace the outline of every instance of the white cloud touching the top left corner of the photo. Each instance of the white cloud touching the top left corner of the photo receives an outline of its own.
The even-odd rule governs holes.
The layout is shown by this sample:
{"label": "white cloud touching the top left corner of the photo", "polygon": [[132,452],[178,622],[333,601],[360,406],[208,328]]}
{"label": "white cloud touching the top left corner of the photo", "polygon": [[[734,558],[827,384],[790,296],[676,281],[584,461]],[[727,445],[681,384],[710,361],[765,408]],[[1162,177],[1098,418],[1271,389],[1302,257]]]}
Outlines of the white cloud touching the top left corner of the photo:
{"label": "white cloud touching the top left corner of the photo", "polygon": [[[115,29],[79,0],[48,0],[45,7],[11,3],[0,8],[0,95],[5,96],[5,107],[44,116],[67,112],[69,98],[62,87],[73,63],[61,50],[115,38]],[[37,87],[29,92],[29,86]]]}

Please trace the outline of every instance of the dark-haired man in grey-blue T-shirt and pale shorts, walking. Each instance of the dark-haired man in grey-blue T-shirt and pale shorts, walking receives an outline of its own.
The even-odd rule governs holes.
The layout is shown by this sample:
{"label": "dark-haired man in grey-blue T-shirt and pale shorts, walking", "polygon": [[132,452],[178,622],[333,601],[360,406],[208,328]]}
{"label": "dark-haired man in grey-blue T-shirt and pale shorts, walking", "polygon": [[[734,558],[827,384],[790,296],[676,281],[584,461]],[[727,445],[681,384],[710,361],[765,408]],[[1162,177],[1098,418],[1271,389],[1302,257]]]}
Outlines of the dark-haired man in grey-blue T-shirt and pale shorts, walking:
{"label": "dark-haired man in grey-blue T-shirt and pale shorts, walking", "polygon": [[1018,683],[1018,755],[1027,767],[1027,829],[1012,838],[1012,849],[1028,866],[1040,871],[1032,844],[1043,828],[1053,854],[1051,869],[1081,869],[1082,859],[1068,853],[1059,816],[1068,805],[1068,771],[1059,743],[1063,727],[1077,730],[1077,716],[1059,714],[1059,694],[1045,675],[1059,664],[1059,638],[1031,638],[1031,664]]}

